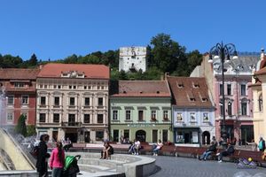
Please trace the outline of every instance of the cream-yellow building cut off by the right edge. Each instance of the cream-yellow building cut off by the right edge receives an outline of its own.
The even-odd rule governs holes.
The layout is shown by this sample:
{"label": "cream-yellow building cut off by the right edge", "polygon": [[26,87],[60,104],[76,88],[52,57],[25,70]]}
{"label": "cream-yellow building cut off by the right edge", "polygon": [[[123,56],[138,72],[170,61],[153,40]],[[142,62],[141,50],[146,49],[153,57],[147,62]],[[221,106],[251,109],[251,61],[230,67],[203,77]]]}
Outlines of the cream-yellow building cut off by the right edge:
{"label": "cream-yellow building cut off by the right edge", "polygon": [[260,137],[266,139],[266,56],[264,50],[255,68],[253,84],[250,87],[253,89],[254,97],[254,141],[258,143]]}

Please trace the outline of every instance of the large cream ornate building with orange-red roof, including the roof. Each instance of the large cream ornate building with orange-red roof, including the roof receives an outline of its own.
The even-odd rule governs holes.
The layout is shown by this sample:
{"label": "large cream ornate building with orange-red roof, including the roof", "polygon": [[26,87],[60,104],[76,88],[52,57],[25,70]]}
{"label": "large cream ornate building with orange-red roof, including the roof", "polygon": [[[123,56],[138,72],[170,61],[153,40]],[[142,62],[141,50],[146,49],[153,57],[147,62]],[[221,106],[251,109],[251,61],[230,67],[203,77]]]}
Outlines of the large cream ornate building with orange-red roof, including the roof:
{"label": "large cream ornate building with orange-red roof, including the roof", "polygon": [[47,64],[36,81],[36,129],[56,141],[108,138],[109,67]]}

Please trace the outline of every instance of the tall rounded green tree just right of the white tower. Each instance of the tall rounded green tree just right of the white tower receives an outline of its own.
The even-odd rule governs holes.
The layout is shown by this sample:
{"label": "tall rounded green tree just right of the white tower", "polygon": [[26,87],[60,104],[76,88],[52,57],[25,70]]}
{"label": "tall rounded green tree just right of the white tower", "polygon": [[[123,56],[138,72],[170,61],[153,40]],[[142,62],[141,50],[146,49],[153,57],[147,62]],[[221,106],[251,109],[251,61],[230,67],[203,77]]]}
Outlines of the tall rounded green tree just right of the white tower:
{"label": "tall rounded green tree just right of the white tower", "polygon": [[[173,73],[185,65],[185,48],[171,39],[170,35],[159,34],[152,38],[152,64],[163,73]],[[180,72],[181,73],[181,72]]]}

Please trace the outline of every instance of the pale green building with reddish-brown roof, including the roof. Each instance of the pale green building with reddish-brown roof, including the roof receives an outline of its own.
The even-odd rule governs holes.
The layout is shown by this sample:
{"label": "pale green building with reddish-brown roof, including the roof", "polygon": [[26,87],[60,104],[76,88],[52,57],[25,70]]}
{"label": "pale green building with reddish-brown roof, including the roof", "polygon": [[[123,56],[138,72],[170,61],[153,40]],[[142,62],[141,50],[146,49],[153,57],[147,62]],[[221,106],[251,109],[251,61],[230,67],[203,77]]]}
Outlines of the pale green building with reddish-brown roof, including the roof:
{"label": "pale green building with reddish-brown roof, including the roof", "polygon": [[113,142],[172,142],[171,93],[167,81],[118,81],[111,87]]}

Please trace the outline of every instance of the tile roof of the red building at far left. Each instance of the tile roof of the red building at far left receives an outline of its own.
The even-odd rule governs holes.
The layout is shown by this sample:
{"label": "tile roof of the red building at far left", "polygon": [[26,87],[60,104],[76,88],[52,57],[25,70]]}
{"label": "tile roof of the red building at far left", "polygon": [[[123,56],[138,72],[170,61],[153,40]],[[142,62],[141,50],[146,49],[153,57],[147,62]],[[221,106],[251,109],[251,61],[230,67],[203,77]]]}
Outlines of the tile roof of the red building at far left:
{"label": "tile roof of the red building at far left", "polygon": [[35,80],[40,69],[0,68],[0,80]]}

